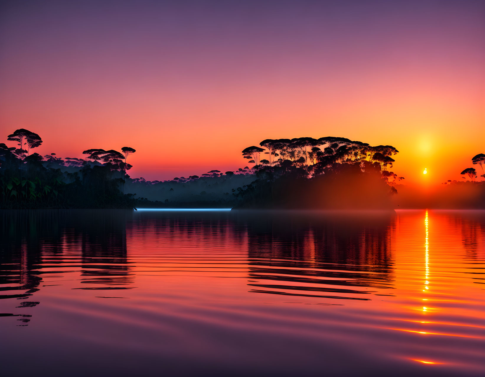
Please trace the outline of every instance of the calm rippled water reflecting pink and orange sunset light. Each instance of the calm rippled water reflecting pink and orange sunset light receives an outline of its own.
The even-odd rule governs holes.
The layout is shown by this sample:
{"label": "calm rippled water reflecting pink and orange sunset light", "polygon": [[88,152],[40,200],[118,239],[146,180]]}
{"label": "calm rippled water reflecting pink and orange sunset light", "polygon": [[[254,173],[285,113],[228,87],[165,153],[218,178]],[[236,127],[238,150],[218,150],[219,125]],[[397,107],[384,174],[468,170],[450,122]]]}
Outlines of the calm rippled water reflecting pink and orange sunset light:
{"label": "calm rippled water reflecting pink and orange sunset light", "polygon": [[485,212],[0,212],[2,376],[485,376]]}

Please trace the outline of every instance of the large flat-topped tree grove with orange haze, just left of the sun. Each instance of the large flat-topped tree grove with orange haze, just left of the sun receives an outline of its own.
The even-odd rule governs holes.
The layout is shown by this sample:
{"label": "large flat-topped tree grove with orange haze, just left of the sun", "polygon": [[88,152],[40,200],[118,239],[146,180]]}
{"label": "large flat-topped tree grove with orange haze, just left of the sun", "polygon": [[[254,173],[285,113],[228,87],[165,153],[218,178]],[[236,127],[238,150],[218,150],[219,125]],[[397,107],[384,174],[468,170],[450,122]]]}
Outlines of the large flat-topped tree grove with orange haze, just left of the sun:
{"label": "large flat-topped tree grove with orange haze, just left of the sun", "polygon": [[[267,139],[242,151],[257,180],[236,194],[241,207],[389,208],[398,150],[339,137]],[[263,156],[262,156],[263,155]],[[267,158],[264,155],[268,155]]]}

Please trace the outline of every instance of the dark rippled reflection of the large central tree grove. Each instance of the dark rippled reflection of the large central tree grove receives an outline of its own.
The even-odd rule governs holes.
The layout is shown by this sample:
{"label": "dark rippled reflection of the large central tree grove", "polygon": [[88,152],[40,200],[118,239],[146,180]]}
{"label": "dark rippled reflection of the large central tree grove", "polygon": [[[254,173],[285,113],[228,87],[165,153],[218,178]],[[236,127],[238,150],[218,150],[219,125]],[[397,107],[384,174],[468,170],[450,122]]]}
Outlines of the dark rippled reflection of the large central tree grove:
{"label": "dark rippled reflection of the large central tree grove", "polygon": [[362,287],[391,288],[391,215],[261,215],[245,219],[253,291],[368,299]]}

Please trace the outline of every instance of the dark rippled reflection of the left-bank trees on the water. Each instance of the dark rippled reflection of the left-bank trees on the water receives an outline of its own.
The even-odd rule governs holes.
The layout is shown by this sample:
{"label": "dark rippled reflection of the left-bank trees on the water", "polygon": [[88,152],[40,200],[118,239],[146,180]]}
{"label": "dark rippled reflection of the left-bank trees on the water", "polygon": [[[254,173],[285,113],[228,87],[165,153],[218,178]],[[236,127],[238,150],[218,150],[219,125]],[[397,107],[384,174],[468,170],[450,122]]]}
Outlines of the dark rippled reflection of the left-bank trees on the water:
{"label": "dark rippled reflection of the left-bank trees on the water", "polygon": [[[43,276],[73,272],[96,276],[85,282],[129,284],[124,210],[0,212],[0,298],[27,299]],[[79,264],[81,259],[81,265]],[[41,268],[49,270],[39,271]],[[57,280],[57,279],[56,279]],[[39,302],[23,301],[19,307]]]}

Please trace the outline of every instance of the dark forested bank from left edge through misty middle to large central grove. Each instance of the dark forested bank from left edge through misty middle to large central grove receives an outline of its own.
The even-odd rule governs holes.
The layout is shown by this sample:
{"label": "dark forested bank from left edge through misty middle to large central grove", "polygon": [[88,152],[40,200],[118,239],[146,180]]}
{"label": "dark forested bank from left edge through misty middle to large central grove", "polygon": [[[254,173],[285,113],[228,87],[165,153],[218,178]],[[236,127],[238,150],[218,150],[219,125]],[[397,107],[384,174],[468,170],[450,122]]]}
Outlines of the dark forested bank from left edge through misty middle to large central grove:
{"label": "dark forested bank from left edge through misty middle to large central grove", "polygon": [[251,168],[168,181],[131,179],[130,147],[59,158],[32,153],[43,141],[29,130],[7,140],[16,146],[0,143],[2,208],[383,207],[402,179],[388,171],[394,147],[336,137],[264,140],[242,151]]}

